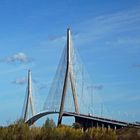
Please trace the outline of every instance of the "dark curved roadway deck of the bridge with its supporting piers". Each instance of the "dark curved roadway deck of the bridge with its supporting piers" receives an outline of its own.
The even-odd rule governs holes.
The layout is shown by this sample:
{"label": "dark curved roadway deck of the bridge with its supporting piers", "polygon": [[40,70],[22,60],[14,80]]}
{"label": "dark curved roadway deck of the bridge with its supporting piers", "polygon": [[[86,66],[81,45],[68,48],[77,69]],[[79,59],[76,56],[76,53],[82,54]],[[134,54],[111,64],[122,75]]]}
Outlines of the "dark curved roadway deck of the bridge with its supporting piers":
{"label": "dark curved roadway deck of the bridge with its supporting piers", "polygon": [[[57,111],[44,111],[37,113],[35,116],[31,117],[29,120],[26,121],[27,124],[32,125],[35,123],[38,119],[49,115],[49,114],[58,114]],[[74,112],[64,112],[63,116],[72,116],[75,117],[75,122],[80,123],[81,126],[84,129],[87,129],[89,127],[106,127],[106,128],[113,128],[113,129],[119,129],[126,126],[136,126],[133,123],[123,122],[123,121],[117,121],[113,119],[107,119],[103,117],[96,117],[91,115],[84,115],[84,114],[77,114]]]}

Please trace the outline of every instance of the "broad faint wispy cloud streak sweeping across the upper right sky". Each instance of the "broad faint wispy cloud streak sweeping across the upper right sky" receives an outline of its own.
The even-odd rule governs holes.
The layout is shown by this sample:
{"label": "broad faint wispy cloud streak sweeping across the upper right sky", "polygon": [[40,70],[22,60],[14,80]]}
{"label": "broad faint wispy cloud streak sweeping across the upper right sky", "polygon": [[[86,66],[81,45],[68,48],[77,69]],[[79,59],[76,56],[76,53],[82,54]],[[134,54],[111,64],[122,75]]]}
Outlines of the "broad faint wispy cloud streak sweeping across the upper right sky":
{"label": "broad faint wispy cloud streak sweeping across the upper right sky", "polygon": [[[84,21],[79,24],[77,29],[82,29],[82,33],[78,36],[77,44],[87,44],[89,42],[96,42],[103,38],[109,37],[123,32],[140,30],[140,10],[131,9],[129,11],[121,11],[117,13],[111,13],[108,15],[97,16]],[[139,37],[138,37],[139,38]],[[123,40],[125,39],[125,40]],[[103,40],[102,40],[103,41]],[[121,38],[118,43],[138,43],[139,40],[131,38]]]}

